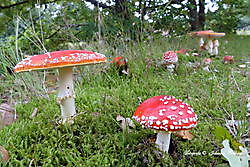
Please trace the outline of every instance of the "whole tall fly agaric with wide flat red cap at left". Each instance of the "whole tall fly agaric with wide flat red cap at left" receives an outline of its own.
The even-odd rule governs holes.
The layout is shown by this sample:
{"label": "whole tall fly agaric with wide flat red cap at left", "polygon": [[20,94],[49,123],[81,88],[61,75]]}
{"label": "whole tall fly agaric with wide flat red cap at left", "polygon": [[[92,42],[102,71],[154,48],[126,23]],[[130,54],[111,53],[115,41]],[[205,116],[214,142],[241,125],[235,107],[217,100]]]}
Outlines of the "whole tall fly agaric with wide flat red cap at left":
{"label": "whole tall fly agaric with wide flat red cap at left", "polygon": [[52,69],[59,70],[59,92],[57,102],[61,106],[62,123],[72,123],[76,114],[72,68],[106,62],[103,54],[86,50],[64,50],[30,56],[19,62],[15,72]]}

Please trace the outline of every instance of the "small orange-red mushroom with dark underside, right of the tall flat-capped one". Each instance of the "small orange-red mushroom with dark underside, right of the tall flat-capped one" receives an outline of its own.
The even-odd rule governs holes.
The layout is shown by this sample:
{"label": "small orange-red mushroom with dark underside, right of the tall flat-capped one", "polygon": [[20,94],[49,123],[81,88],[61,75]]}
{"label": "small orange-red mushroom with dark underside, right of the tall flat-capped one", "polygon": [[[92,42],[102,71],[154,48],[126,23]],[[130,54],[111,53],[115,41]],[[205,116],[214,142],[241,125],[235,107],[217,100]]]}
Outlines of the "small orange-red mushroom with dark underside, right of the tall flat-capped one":
{"label": "small orange-red mushroom with dark underside, right of the tall flat-capped one", "polygon": [[128,59],[125,57],[115,57],[113,58],[113,61],[111,62],[115,65],[117,70],[119,71],[119,75],[125,74],[128,75],[129,69],[128,69]]}

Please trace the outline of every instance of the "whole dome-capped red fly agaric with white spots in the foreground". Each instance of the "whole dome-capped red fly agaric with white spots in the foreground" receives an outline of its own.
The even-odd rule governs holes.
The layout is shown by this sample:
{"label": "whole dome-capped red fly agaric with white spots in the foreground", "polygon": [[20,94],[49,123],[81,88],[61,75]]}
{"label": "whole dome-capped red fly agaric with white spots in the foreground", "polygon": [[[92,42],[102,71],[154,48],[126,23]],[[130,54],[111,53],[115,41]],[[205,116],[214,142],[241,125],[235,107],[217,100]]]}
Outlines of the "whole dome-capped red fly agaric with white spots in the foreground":
{"label": "whole dome-capped red fly agaric with white spots in the foreground", "polygon": [[158,131],[156,145],[168,152],[171,132],[190,130],[197,125],[197,115],[190,105],[172,96],[154,96],[141,103],[133,119],[143,127]]}

